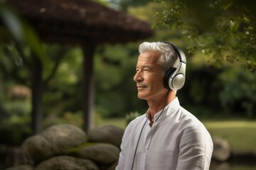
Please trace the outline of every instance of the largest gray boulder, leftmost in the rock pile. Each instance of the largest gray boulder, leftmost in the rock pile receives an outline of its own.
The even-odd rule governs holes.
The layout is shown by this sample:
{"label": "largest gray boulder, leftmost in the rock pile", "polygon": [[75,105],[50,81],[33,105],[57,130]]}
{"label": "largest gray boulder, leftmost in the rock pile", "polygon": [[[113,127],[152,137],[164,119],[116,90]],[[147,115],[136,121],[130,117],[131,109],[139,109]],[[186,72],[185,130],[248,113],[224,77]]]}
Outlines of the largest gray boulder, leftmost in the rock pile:
{"label": "largest gray boulder, leftmost in the rock pile", "polygon": [[48,157],[63,154],[86,140],[85,132],[74,125],[53,125],[38,135],[28,137],[22,149],[28,162],[36,164]]}

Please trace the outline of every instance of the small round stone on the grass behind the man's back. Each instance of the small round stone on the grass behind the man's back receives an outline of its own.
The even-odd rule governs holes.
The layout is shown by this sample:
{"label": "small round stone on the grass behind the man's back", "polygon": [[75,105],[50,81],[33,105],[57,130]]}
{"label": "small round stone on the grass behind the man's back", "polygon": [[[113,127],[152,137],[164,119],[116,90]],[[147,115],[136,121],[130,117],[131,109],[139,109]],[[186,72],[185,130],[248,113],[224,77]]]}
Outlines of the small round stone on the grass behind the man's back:
{"label": "small round stone on the grass behind the man's back", "polygon": [[219,162],[227,161],[231,156],[231,147],[228,141],[221,138],[213,138],[213,159]]}

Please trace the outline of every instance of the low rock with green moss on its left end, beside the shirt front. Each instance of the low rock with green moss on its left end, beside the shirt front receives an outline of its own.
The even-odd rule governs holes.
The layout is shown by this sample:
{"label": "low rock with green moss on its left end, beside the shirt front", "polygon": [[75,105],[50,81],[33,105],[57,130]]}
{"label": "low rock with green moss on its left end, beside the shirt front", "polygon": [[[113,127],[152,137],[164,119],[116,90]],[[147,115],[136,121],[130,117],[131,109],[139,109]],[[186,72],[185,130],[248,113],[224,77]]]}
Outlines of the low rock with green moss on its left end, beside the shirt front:
{"label": "low rock with green moss on its left end, beside the shirt front", "polygon": [[118,147],[102,143],[80,148],[77,156],[83,159],[90,159],[96,164],[110,165],[117,162],[119,152]]}

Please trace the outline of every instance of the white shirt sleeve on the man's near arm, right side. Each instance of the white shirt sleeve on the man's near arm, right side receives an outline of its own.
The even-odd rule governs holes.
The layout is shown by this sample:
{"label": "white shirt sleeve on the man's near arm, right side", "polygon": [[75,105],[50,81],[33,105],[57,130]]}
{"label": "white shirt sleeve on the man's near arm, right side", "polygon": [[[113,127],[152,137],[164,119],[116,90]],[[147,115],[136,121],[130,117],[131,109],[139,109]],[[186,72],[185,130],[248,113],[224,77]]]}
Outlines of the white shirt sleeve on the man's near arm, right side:
{"label": "white shirt sleeve on the man's near arm, right side", "polygon": [[201,126],[187,128],[181,137],[176,170],[208,170],[213,142],[208,131]]}

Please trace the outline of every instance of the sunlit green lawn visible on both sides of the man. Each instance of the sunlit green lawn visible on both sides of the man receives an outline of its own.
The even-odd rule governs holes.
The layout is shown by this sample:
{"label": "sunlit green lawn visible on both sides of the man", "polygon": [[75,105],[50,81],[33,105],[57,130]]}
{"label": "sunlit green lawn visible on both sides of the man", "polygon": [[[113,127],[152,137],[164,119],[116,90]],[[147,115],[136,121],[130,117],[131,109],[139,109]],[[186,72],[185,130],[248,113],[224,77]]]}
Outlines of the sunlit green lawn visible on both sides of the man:
{"label": "sunlit green lawn visible on both sides of the man", "polygon": [[[238,152],[256,151],[256,121],[252,120],[204,120],[212,137],[221,137],[230,143]],[[101,121],[100,125],[126,127],[125,118],[110,118]]]}

